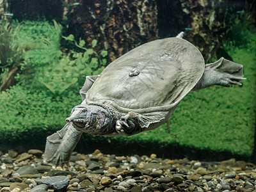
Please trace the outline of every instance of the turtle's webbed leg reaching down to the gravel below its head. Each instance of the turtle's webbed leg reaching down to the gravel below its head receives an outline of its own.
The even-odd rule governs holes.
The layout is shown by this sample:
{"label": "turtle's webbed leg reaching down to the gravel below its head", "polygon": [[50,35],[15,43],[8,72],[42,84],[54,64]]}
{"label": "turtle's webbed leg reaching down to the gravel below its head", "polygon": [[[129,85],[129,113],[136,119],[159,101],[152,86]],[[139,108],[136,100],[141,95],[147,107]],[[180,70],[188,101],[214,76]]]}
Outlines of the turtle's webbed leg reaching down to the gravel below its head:
{"label": "turtle's webbed leg reaching down to the gravel below its head", "polygon": [[48,136],[45,145],[45,163],[61,166],[68,165],[70,155],[80,140],[82,133],[77,131],[70,122],[60,131]]}

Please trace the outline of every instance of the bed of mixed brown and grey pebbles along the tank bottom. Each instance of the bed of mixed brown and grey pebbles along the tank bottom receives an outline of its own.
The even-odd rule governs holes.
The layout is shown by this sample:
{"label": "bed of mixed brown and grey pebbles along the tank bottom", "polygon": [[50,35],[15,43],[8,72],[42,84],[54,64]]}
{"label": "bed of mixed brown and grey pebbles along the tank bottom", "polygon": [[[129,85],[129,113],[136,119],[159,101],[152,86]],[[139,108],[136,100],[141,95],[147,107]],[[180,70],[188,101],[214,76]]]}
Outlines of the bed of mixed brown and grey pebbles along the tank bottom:
{"label": "bed of mixed brown and grey pebbles along the tank bottom", "polygon": [[148,156],[77,154],[70,167],[50,166],[44,153],[0,152],[0,191],[239,191],[256,192],[256,166],[229,159],[221,162],[161,159]]}

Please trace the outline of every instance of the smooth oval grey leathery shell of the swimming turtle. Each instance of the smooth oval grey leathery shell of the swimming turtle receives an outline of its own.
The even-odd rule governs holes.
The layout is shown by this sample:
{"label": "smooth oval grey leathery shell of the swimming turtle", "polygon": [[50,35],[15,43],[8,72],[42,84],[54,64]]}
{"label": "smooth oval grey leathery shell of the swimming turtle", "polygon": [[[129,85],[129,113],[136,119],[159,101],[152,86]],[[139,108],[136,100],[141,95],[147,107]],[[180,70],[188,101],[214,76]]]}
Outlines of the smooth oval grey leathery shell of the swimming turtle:
{"label": "smooth oval grey leathery shell of the swimming turtle", "polygon": [[86,93],[87,104],[120,112],[170,111],[204,73],[204,58],[182,38],[140,45],[108,65]]}

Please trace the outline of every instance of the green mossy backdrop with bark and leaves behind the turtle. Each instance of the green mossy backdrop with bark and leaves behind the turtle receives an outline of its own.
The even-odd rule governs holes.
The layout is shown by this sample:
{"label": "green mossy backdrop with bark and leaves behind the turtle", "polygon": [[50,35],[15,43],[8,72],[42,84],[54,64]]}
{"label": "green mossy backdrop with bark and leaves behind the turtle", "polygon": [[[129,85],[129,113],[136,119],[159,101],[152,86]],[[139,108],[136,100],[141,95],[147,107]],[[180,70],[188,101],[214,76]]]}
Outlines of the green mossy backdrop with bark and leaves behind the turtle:
{"label": "green mossy backdrop with bark and leaves behind the turtle", "polygon": [[86,76],[145,42],[176,36],[244,66],[243,86],[190,92],[170,120],[135,136],[83,134],[89,153],[255,160],[255,1],[0,1],[0,150],[44,149],[81,102]]}

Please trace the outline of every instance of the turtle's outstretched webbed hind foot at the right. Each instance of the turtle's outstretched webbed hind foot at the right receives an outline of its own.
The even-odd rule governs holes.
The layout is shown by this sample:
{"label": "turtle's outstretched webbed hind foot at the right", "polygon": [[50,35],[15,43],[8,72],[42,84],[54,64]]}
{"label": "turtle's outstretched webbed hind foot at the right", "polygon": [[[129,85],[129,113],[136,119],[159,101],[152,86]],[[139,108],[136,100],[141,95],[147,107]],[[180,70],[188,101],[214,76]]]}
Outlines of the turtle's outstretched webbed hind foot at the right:
{"label": "turtle's outstretched webbed hind foot at the right", "polygon": [[231,87],[234,84],[242,85],[244,80],[243,65],[220,58],[220,60],[205,65],[205,71],[193,91],[207,88],[213,85]]}

